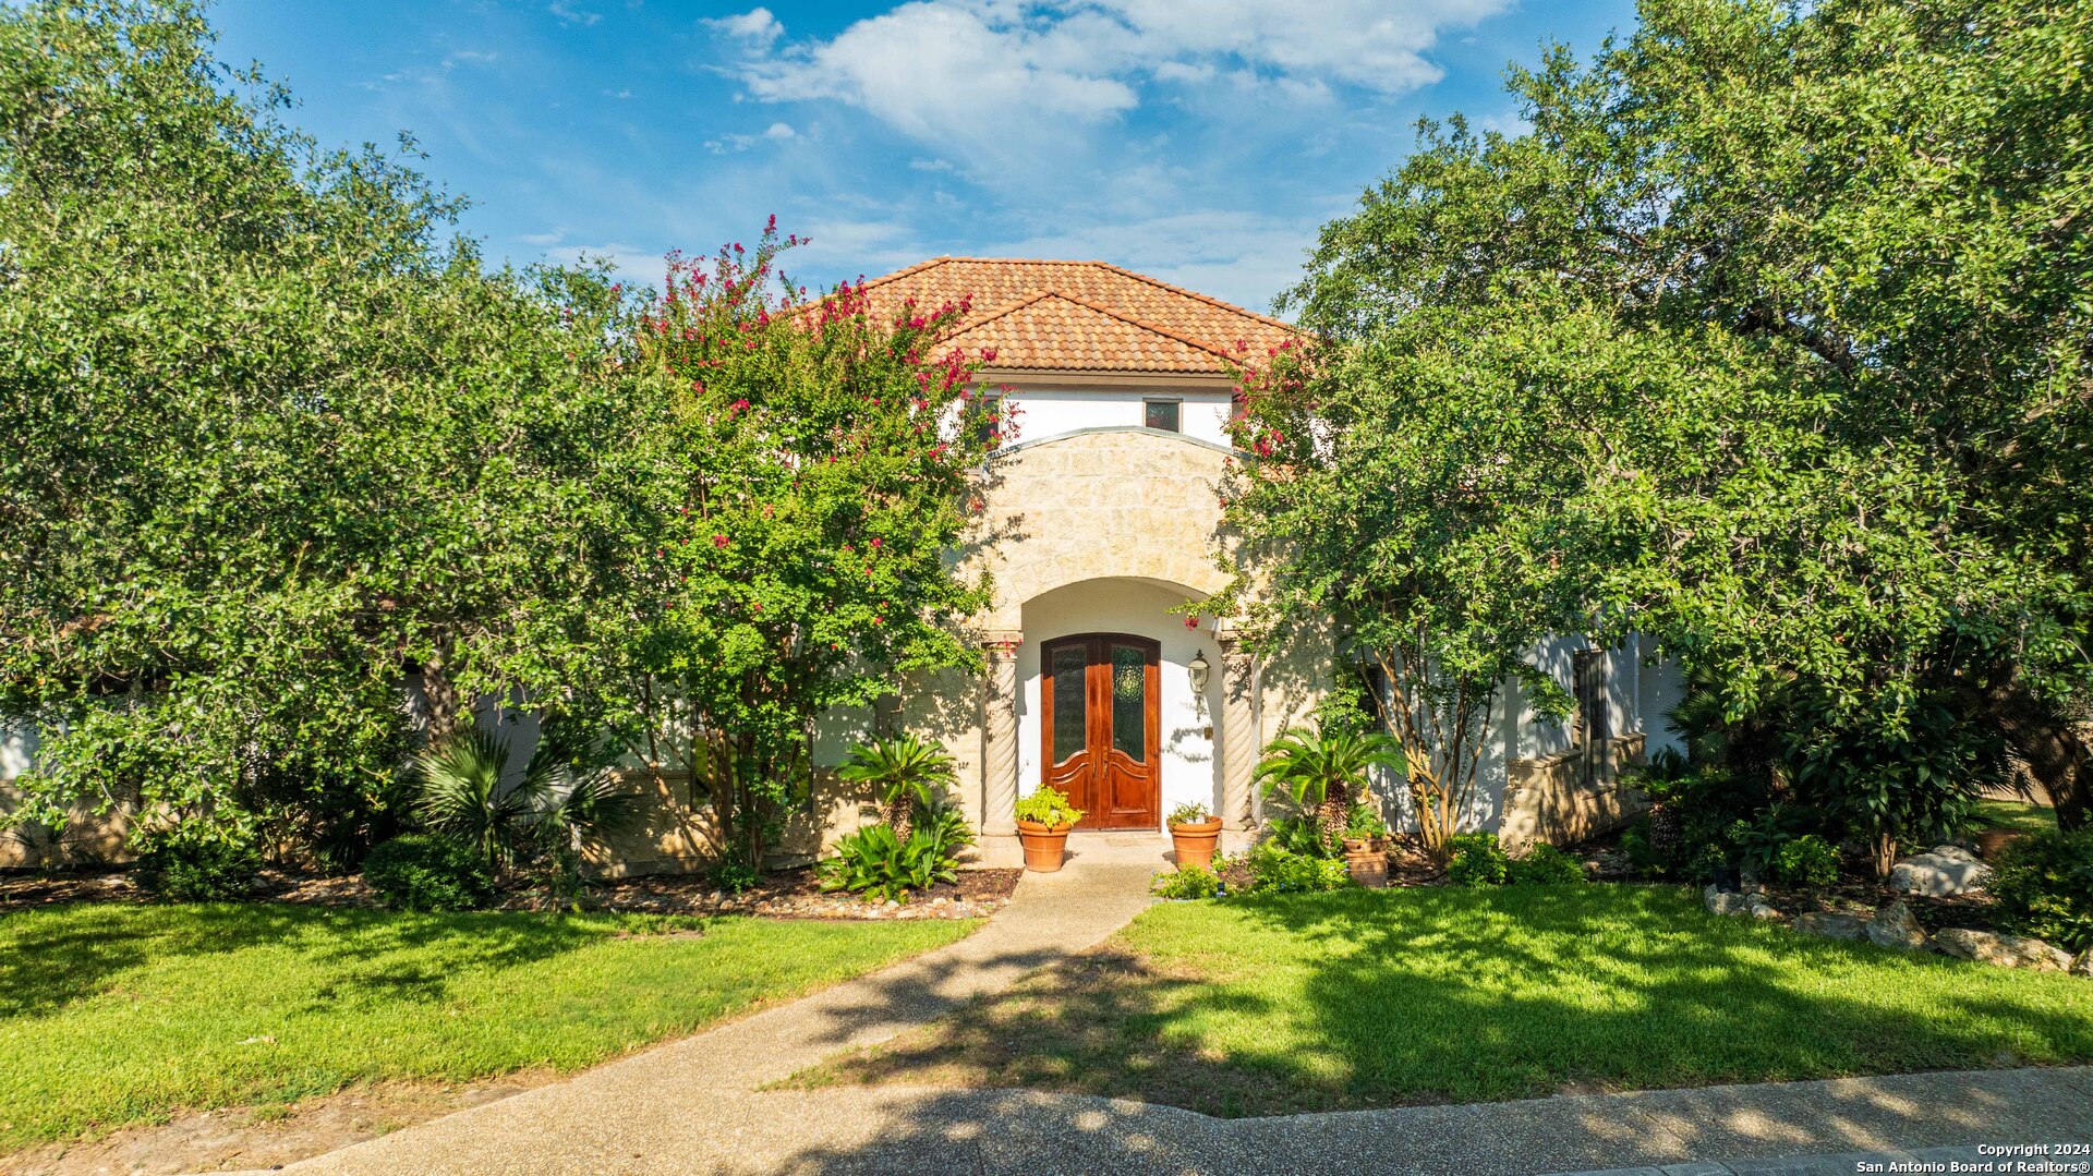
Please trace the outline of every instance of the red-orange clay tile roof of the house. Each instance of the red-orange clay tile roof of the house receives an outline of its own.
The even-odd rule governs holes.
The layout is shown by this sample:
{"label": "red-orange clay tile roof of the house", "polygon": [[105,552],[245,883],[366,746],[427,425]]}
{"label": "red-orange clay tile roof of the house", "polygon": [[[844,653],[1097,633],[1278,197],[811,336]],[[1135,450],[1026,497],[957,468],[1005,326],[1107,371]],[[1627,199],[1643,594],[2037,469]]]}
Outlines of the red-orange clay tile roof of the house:
{"label": "red-orange clay tile roof of the house", "polygon": [[864,293],[877,314],[971,297],[948,339],[992,347],[990,368],[1229,375],[1239,345],[1262,356],[1296,339],[1277,318],[1105,262],[933,257],[864,282]]}

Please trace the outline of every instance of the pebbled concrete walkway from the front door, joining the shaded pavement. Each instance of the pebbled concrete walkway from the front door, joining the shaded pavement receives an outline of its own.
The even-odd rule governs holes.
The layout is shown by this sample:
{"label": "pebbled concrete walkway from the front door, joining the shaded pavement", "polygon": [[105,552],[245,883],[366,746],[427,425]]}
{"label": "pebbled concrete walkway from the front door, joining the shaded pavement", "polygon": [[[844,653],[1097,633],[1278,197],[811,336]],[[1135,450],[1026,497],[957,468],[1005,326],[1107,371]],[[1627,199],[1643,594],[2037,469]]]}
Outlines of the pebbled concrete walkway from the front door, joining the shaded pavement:
{"label": "pebbled concrete walkway from the front door, joining the shaded pavement", "polygon": [[[1151,850],[1028,875],[982,931],[806,1000],[573,1080],[308,1159],[299,1174],[1507,1174],[1748,1172],[1764,1157],[2093,1136],[2093,1067],[1911,1073],[1212,1120],[1032,1090],[758,1092],[1088,948],[1136,914]],[[1850,1157],[1840,1172],[1854,1172]],[[1823,1170],[1823,1168],[1796,1168]],[[1829,1170],[1825,1170],[1829,1172]]]}

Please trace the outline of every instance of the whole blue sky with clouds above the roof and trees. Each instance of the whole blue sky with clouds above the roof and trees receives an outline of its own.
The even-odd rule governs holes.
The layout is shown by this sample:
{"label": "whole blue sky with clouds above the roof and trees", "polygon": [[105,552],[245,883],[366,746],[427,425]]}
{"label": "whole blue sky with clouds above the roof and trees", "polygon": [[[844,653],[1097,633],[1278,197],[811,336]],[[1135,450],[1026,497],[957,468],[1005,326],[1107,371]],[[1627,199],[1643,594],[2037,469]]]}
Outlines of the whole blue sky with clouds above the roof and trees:
{"label": "whole blue sky with clouds above the roof and trees", "polygon": [[1515,126],[1509,61],[1628,0],[220,0],[324,144],[412,132],[490,257],[812,239],[829,285],[940,253],[1099,257],[1266,310],[1419,115]]}

